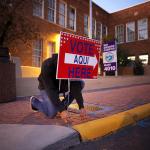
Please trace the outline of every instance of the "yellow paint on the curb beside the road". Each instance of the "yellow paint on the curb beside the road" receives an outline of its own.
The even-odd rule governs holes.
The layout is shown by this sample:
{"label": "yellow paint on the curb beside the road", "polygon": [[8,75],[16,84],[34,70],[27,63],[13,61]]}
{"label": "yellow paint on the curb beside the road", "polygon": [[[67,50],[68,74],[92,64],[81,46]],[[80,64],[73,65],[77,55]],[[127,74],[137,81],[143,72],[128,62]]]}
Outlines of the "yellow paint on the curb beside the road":
{"label": "yellow paint on the curb beside the road", "polygon": [[73,126],[82,140],[92,140],[150,116],[150,103],[109,117]]}

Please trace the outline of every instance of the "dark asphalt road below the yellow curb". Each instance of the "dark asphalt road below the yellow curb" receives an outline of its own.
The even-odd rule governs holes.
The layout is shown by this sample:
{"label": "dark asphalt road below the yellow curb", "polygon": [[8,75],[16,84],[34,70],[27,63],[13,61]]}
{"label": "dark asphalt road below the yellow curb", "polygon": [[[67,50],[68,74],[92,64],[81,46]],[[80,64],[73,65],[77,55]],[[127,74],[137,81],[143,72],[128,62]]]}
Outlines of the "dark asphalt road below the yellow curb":
{"label": "dark asphalt road below the yellow curb", "polygon": [[150,118],[68,150],[150,150]]}

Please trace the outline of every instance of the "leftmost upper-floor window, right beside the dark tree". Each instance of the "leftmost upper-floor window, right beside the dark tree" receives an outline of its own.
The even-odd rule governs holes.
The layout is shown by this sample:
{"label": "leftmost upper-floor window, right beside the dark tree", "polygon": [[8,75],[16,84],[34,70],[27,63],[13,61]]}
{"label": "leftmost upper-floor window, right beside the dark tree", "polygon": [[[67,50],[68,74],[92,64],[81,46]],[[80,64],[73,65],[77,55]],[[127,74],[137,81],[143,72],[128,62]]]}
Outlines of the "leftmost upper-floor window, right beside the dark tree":
{"label": "leftmost upper-floor window, right beside the dark tree", "polygon": [[43,0],[33,1],[33,16],[44,18],[44,1]]}

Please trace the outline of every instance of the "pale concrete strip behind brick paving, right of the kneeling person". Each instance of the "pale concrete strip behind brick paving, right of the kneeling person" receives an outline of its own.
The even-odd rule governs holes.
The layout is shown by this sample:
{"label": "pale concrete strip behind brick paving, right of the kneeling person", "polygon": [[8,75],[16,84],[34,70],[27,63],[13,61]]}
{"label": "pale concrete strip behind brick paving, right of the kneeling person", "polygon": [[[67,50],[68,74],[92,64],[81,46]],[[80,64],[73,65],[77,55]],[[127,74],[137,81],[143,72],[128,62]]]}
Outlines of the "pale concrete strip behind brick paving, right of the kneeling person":
{"label": "pale concrete strip behind brick paving, right of the kneeling person", "polygon": [[150,76],[99,76],[98,79],[85,80],[84,92],[107,90],[121,87],[150,84]]}

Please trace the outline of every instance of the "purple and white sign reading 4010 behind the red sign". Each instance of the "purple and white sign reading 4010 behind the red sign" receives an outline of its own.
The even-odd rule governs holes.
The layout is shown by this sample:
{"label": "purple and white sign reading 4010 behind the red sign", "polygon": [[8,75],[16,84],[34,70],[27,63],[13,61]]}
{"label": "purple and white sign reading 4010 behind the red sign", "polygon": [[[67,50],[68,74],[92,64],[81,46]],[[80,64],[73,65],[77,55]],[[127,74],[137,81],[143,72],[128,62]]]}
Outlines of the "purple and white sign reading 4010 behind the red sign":
{"label": "purple and white sign reading 4010 behind the red sign", "polygon": [[117,70],[117,46],[115,41],[103,44],[103,64],[104,71]]}

